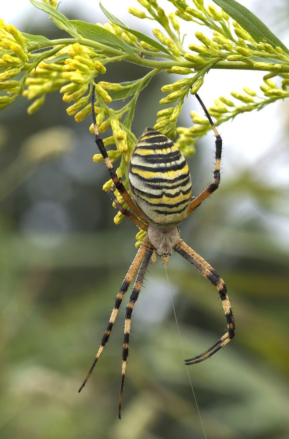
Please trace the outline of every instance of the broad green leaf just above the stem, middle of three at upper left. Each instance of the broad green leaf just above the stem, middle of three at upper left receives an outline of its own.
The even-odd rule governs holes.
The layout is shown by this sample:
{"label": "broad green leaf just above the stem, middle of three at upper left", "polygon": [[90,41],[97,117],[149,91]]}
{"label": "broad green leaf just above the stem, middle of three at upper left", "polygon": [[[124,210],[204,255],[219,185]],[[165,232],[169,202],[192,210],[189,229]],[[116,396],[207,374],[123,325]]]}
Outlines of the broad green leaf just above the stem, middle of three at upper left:
{"label": "broad green leaf just above the stem, middle of three at upper left", "polygon": [[125,43],[123,40],[120,40],[120,38],[118,38],[112,32],[109,32],[107,29],[104,29],[101,26],[92,25],[80,20],[69,20],[69,23],[76,28],[80,35],[82,35],[84,38],[87,38],[87,40],[107,44],[111,47],[119,47],[119,49],[122,49],[130,56],[133,56],[134,58],[137,56],[129,44]]}

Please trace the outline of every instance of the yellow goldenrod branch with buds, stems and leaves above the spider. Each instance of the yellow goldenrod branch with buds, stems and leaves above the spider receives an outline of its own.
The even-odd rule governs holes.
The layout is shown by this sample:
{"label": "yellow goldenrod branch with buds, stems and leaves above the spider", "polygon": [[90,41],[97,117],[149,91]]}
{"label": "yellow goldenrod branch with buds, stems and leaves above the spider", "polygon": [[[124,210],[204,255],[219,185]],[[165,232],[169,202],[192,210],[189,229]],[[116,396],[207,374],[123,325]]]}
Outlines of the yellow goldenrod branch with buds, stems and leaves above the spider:
{"label": "yellow goldenrod branch with buds, stems and leaves above the spider", "polygon": [[[214,101],[209,112],[218,125],[239,113],[260,109],[289,96],[289,50],[250,11],[247,11],[251,16],[246,24],[238,8],[232,13],[232,20],[222,9],[213,5],[206,7],[203,0],[193,0],[194,7],[185,0],[168,0],[168,5],[174,7],[174,11],[168,14],[157,0],[137,1],[143,10],[130,7],[128,12],[136,18],[155,22],[153,38],[119,22],[103,6],[101,9],[109,19],[105,24],[69,21],[58,12],[54,0],[42,0],[37,7],[49,12],[51,20],[70,33],[71,38],[50,41],[41,36],[22,35],[13,25],[0,21],[0,109],[23,94],[33,100],[28,107],[29,114],[32,114],[43,105],[47,93],[59,90],[63,101],[69,104],[67,113],[74,115],[76,122],[81,122],[90,114],[94,85],[98,130],[100,133],[111,130],[103,136],[103,141],[106,148],[112,147],[107,151],[111,161],[120,161],[116,173],[126,187],[127,166],[137,142],[131,131],[137,98],[159,72],[174,73],[180,78],[162,86],[161,90],[166,95],[159,103],[166,107],[159,108],[154,127],[167,137],[176,138],[175,143],[183,155],[193,154],[196,141],[210,130],[209,122],[194,112],[191,113],[192,127],[177,126],[186,97],[199,90],[210,69],[265,72],[264,83],[260,86],[261,97],[244,87],[245,94],[231,93],[237,102],[225,97]],[[184,47],[182,20],[192,22],[192,26],[197,23],[206,27],[210,37],[206,32],[195,32],[195,39],[188,41],[188,46]],[[248,22],[254,24],[251,29]],[[260,26],[262,33],[258,30]],[[191,32],[187,38],[191,38]],[[105,81],[109,63],[119,61],[145,66],[149,72],[146,70],[145,76],[131,82]],[[98,80],[100,75],[102,78]],[[275,76],[280,77],[281,87],[273,81]],[[114,100],[126,102],[116,110],[112,108]],[[94,132],[92,125],[90,131]],[[103,157],[95,154],[94,161],[101,162]],[[110,179],[103,189],[108,191],[111,188],[123,204]],[[122,214],[118,213],[115,223],[121,222],[122,218]],[[143,234],[137,235],[138,242],[142,238]]]}

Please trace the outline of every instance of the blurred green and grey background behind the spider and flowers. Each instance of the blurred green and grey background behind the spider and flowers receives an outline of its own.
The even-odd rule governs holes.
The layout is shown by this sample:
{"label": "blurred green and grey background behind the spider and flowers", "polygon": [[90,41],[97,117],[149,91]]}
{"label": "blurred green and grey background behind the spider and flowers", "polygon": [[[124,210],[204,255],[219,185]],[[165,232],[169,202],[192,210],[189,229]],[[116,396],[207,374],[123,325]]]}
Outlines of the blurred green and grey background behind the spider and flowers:
{"label": "blurred green and grey background behind the spider and flowers", "polygon": [[[101,14],[79,16],[71,2],[62,4],[69,18],[104,21]],[[280,16],[282,2],[278,7]],[[20,30],[40,33],[34,28],[44,27],[46,36],[61,37],[45,14],[33,13],[31,7]],[[120,18],[129,23],[125,14]],[[128,81],[143,74],[118,63],[101,79]],[[200,90],[207,106],[231,91],[226,79],[235,72],[218,74],[210,72]],[[250,86],[251,76],[255,80],[246,72],[241,85]],[[170,82],[171,76],[159,76],[141,95],[137,136],[155,123],[160,87]],[[161,261],[150,265],[134,311],[122,421],[117,407],[124,309],[94,374],[77,393],[136,252],[137,229],[126,221],[113,224],[116,211],[101,191],[108,180],[105,165],[92,162],[97,151],[90,119],[76,124],[66,106],[54,93],[33,116],[26,114],[25,99],[0,115],[0,437],[202,438]],[[179,125],[188,126],[190,110],[199,111],[192,97]],[[236,317],[233,342],[189,367],[207,437],[214,439],[289,437],[288,102],[261,113],[221,126],[220,188],[181,225],[184,241],[224,278]],[[50,155],[51,147],[59,153]],[[188,159],[195,194],[212,179],[212,135],[196,150]],[[177,254],[168,276],[185,356],[193,356],[224,333],[217,289]]]}

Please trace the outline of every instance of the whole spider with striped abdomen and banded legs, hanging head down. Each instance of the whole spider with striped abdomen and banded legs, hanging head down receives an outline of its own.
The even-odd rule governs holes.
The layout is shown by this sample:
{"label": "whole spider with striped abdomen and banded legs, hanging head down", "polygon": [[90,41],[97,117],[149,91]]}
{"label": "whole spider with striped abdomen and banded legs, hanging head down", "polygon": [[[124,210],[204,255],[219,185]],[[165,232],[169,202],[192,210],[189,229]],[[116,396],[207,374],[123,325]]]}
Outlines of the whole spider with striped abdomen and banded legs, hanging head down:
{"label": "whole spider with striped abdomen and banded legs, hanging head down", "polygon": [[172,251],[174,250],[179,253],[184,259],[193,265],[202,276],[206,277],[208,281],[217,287],[222,301],[228,331],[209,349],[200,355],[185,360],[185,364],[195,364],[210,358],[210,356],[216,353],[219,349],[227,345],[235,335],[234,317],[227,294],[227,288],[223,279],[213,267],[210,266],[210,264],[181,240],[177,227],[185,218],[191,215],[191,212],[193,212],[207,197],[216,191],[220,183],[222,139],[198,94],[195,94],[195,97],[201,104],[216,136],[215,167],[213,171],[214,182],[209,184],[209,186],[197,197],[191,197],[191,176],[184,156],[168,137],[149,127],[142,133],[130,158],[128,174],[130,192],[132,195],[132,198],[130,198],[123,183],[116,175],[112,162],[105,150],[103,141],[99,136],[94,112],[94,87],[92,91],[91,112],[94,123],[95,142],[104,158],[114,188],[119,191],[130,210],[125,209],[117,201],[113,190],[109,191],[108,194],[115,202],[117,209],[119,209],[124,216],[133,221],[142,230],[147,231],[147,236],[138,249],[116,296],[115,305],[102,337],[98,353],[94,358],[87,376],[79,388],[80,392],[90,377],[94,366],[108,342],[123,296],[129,288],[139,267],[134,282],[134,288],[126,306],[122,380],[119,396],[119,419],[123,399],[123,385],[128,357],[132,311],[140,293],[148,264],[151,259],[152,262],[156,262],[156,255],[160,256],[165,264],[168,264]]}

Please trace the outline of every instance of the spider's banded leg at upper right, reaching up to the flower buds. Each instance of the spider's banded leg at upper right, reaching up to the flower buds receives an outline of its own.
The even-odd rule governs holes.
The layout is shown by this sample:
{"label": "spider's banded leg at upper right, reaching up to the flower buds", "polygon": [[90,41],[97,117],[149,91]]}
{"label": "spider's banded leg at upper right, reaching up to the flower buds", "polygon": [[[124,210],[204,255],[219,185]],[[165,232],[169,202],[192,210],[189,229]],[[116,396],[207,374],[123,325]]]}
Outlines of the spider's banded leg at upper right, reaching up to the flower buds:
{"label": "spider's banded leg at upper right, reaching up to the flower buds", "polygon": [[222,154],[222,139],[220,134],[217,132],[217,129],[209,115],[205,105],[201,101],[198,94],[195,94],[195,97],[198,99],[199,103],[202,106],[202,109],[206,113],[207,118],[213,128],[213,132],[216,136],[215,144],[216,144],[216,156],[215,156],[215,168],[214,168],[214,182],[211,183],[204,191],[202,191],[197,197],[195,197],[189,204],[187,216],[191,215],[193,212],[207,197],[209,197],[220,184],[220,164],[221,164],[221,154]]}

